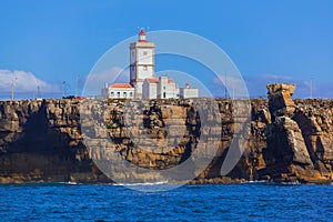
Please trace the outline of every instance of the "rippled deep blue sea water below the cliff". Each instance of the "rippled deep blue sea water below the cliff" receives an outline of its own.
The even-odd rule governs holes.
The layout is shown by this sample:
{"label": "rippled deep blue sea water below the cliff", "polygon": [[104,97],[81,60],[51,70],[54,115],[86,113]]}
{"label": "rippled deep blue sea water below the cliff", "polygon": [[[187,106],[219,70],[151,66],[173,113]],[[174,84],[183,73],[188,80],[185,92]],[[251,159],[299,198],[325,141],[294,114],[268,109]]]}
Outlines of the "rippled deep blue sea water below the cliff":
{"label": "rippled deep blue sea water below the cliff", "polygon": [[[168,184],[147,185],[148,189]],[[333,221],[333,185],[0,185],[1,221]]]}

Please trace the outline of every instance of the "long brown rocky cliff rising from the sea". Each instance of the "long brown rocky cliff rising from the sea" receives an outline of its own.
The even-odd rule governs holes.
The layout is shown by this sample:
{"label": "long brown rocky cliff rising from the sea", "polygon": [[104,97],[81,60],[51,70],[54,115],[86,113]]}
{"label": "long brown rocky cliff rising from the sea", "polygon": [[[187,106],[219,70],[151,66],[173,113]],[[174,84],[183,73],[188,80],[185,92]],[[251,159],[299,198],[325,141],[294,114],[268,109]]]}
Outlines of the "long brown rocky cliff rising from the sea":
{"label": "long brown rocky cliff rising from the sea", "polygon": [[[269,100],[238,109],[223,99],[2,101],[0,182],[149,181],[188,160],[193,170],[173,175],[191,183],[332,182],[332,101],[293,101],[292,84],[268,90]],[[242,155],[224,175],[233,145]],[[147,171],[129,175],[113,153]]]}

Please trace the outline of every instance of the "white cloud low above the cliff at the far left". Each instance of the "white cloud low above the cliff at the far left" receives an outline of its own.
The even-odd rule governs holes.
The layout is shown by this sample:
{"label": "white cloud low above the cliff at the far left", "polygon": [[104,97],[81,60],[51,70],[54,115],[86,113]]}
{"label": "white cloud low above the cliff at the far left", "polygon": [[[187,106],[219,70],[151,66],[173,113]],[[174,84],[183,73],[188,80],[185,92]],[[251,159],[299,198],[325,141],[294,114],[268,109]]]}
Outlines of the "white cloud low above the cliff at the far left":
{"label": "white cloud low above the cliff at the far left", "polygon": [[11,82],[13,82],[16,92],[37,92],[37,88],[44,93],[60,92],[57,85],[50,84],[38,79],[31,72],[0,70],[0,92],[7,93],[11,91]]}

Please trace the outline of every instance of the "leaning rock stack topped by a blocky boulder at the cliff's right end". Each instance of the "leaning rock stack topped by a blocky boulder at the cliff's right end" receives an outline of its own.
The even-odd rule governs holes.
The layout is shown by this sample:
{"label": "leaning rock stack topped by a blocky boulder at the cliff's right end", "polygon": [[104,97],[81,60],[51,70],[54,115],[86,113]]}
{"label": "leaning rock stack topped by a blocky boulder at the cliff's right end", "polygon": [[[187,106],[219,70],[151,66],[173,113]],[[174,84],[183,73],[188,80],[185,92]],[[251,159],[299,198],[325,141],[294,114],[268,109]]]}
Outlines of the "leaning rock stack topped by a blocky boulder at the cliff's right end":
{"label": "leaning rock stack topped by a blocky boulder at the cliff's right end", "polygon": [[292,100],[294,84],[270,84],[268,90],[273,122],[266,128],[266,149],[263,152],[266,168],[262,173],[274,181],[330,182],[331,159],[324,159],[320,152],[325,150],[330,155],[333,148],[322,141],[331,142],[332,138],[330,131],[323,132],[316,123],[322,119],[321,114],[309,114],[302,101],[295,105]]}

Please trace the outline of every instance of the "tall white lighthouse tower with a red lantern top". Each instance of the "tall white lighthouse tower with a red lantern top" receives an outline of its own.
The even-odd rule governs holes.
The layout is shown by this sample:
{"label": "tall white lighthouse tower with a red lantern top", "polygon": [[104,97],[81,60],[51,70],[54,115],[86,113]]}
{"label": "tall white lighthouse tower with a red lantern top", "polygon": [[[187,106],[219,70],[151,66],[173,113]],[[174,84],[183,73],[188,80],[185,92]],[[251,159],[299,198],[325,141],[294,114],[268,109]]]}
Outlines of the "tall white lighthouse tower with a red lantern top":
{"label": "tall white lighthouse tower with a red lantern top", "polygon": [[155,77],[155,44],[147,40],[142,29],[138,42],[130,44],[130,83],[135,88],[135,98],[142,98],[144,79]]}

